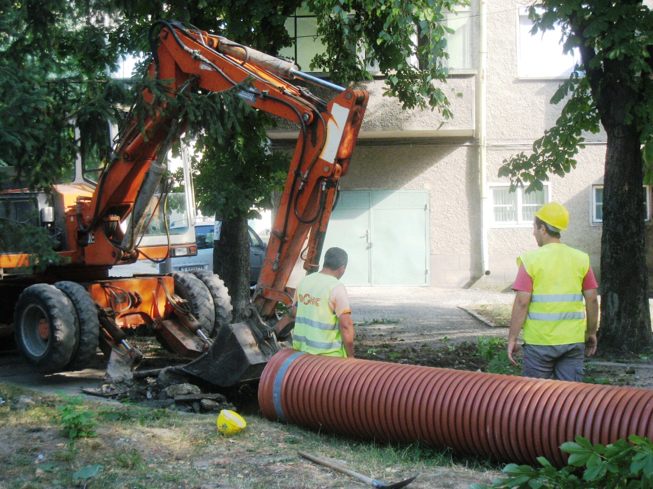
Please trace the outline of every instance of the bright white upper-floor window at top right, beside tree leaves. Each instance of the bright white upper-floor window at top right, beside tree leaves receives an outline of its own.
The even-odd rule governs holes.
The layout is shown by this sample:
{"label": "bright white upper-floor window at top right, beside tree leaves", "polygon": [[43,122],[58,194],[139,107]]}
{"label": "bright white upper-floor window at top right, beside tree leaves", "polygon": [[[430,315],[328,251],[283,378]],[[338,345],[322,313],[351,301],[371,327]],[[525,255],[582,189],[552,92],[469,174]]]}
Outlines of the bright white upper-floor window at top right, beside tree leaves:
{"label": "bright white upper-floor window at top right, beside tree leaves", "polygon": [[518,9],[517,76],[519,78],[567,78],[581,57],[578,50],[563,54],[562,29],[555,25],[552,31],[531,34],[533,22],[528,18],[528,7]]}

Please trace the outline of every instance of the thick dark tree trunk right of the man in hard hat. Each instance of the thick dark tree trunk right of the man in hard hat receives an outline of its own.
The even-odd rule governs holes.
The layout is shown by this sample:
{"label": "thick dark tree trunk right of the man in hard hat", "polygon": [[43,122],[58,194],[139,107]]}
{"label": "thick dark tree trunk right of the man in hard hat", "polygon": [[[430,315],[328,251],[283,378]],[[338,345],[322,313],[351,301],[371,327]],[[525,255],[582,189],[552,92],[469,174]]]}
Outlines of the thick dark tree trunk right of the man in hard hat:
{"label": "thick dark tree trunk right of the man in hard hat", "polygon": [[607,131],[601,237],[601,347],[635,353],[653,348],[648,308],[642,156],[639,131],[626,124],[631,93],[606,90],[601,121]]}

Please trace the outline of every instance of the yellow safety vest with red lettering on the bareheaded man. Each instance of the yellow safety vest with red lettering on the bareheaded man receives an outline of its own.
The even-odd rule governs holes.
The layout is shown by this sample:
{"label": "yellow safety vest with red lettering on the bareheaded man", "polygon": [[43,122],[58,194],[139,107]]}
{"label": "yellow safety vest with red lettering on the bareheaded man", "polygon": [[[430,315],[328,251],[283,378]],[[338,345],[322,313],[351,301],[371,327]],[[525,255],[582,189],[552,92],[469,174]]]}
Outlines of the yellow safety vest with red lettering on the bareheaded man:
{"label": "yellow safety vest with red lettering on the bareheaded man", "polygon": [[293,348],[313,355],[347,357],[338,317],[328,308],[328,298],[338,284],[340,280],[324,273],[311,273],[299,282]]}

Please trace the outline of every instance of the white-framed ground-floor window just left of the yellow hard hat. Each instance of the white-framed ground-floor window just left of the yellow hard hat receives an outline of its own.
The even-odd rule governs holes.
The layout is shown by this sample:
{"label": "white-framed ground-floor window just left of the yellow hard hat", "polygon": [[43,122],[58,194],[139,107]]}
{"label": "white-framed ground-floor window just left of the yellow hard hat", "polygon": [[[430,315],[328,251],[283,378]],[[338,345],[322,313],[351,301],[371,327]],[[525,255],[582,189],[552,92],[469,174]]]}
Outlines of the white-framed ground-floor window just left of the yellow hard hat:
{"label": "white-framed ground-floor window just left of the yellow hard hat", "polygon": [[492,222],[494,227],[528,226],[533,223],[534,213],[549,202],[549,186],[526,193],[518,187],[514,192],[509,185],[490,186],[492,194]]}

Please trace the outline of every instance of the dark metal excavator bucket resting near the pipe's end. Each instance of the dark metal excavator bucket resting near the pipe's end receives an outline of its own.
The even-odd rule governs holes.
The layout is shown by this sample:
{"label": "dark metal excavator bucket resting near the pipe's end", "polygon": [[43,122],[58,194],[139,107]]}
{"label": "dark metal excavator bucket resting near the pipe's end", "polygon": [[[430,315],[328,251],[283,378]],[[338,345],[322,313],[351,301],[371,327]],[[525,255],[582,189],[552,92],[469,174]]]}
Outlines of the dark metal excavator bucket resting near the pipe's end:
{"label": "dark metal excavator bucket resting near the pipe's end", "polygon": [[283,348],[292,347],[278,342],[269,329],[247,320],[221,326],[213,346],[180,369],[220,387],[231,387],[260,379],[265,365]]}

